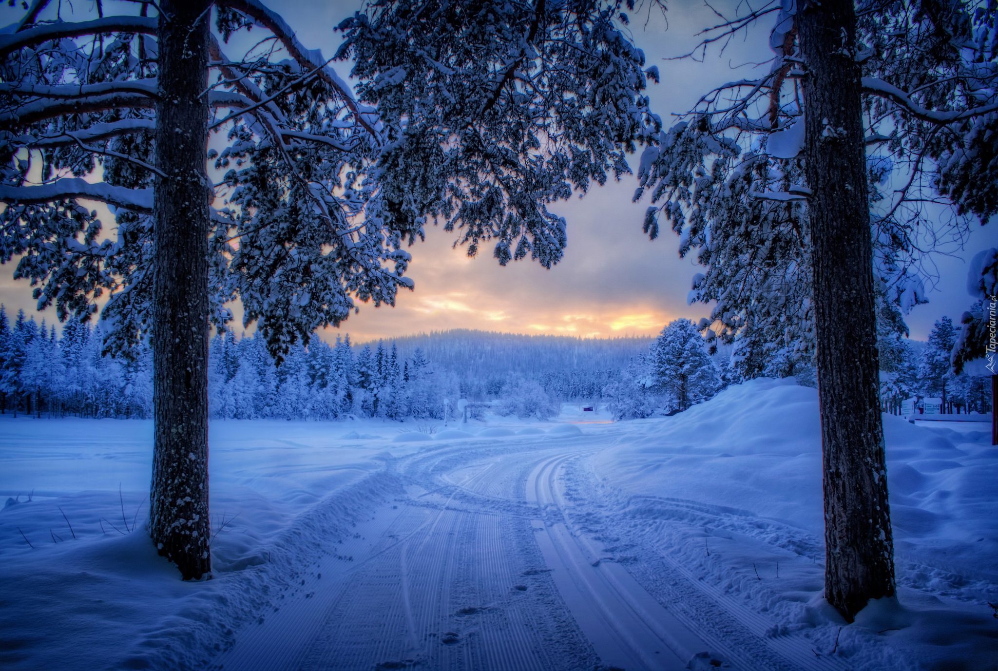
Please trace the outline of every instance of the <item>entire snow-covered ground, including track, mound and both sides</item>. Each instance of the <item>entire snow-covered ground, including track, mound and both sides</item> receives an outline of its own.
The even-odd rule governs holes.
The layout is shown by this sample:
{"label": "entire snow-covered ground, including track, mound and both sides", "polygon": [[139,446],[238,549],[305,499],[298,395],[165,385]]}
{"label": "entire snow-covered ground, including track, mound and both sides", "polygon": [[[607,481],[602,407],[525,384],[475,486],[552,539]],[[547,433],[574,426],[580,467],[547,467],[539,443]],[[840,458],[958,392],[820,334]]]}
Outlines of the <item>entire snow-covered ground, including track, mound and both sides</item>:
{"label": "entire snow-covered ground, including track, mound and both sides", "polygon": [[885,425],[900,588],[847,625],[786,380],[616,423],[215,421],[187,583],[143,528],[150,422],[0,416],[0,665],[996,668],[988,426]]}

